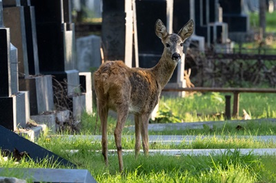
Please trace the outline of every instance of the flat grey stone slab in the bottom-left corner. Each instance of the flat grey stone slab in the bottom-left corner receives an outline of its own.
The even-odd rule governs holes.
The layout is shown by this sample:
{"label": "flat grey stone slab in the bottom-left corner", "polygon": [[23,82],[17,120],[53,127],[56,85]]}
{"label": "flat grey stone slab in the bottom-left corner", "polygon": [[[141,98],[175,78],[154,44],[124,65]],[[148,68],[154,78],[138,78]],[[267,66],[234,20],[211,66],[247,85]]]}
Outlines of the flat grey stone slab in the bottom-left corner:
{"label": "flat grey stone slab in the bottom-left corner", "polygon": [[[5,169],[0,169],[5,171]],[[25,178],[32,178],[33,182],[52,183],[94,183],[96,180],[86,169],[18,169],[9,171],[23,172]]]}

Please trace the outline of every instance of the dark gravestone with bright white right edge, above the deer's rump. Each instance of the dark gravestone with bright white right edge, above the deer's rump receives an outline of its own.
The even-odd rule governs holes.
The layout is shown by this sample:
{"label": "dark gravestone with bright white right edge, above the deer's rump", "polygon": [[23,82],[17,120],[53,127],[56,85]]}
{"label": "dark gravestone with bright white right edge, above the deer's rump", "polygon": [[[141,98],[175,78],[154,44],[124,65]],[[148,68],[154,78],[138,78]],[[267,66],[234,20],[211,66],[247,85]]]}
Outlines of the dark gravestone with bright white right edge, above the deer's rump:
{"label": "dark gravestone with bright white right edge, above the deer's rump", "polygon": [[132,1],[103,0],[101,39],[106,60],[132,67]]}

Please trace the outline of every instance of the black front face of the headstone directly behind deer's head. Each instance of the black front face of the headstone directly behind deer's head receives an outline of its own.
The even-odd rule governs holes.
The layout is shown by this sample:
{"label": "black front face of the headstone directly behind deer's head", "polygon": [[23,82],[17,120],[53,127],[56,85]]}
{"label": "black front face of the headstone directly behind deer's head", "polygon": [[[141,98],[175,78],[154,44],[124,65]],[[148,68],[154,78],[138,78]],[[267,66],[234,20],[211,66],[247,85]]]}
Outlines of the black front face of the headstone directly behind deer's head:
{"label": "black front face of the headstone directly behind deer's head", "polygon": [[[164,50],[164,45],[155,34],[155,23],[157,19],[161,19],[164,25],[167,25],[167,1],[141,0],[135,2],[139,67],[150,68],[159,62]],[[177,69],[172,74],[170,82],[177,82]]]}

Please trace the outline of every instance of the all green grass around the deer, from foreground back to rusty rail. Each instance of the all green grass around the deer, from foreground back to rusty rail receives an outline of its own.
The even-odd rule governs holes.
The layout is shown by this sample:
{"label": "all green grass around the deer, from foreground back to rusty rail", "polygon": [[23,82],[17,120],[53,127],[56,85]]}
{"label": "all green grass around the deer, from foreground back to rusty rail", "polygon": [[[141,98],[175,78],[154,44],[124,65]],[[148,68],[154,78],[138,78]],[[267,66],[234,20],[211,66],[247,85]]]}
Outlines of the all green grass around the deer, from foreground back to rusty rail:
{"label": "all green grass around the deer, from foreground back to rusty rail", "polygon": [[[275,118],[275,95],[273,94],[241,94],[240,108],[250,112],[252,118]],[[162,97],[160,111],[167,120],[178,121],[206,121],[223,120],[225,107],[224,94],[195,94],[186,98]],[[200,112],[199,112],[200,111]],[[241,112],[241,111],[240,111]],[[240,113],[241,115],[241,113]],[[213,128],[203,125],[202,129],[150,131],[150,134],[170,134],[197,136],[190,143],[150,144],[150,149],[235,149],[220,154],[208,156],[196,155],[161,155],[143,154],[136,160],[134,153],[124,154],[124,173],[118,172],[118,159],[116,153],[110,153],[109,166],[106,167],[101,155],[101,142],[88,136],[101,134],[100,122],[96,122],[97,115],[83,114],[81,119],[81,132],[78,135],[64,136],[44,134],[37,144],[49,149],[53,153],[77,165],[77,169],[88,169],[98,182],[275,182],[276,155],[243,155],[239,149],[243,148],[276,148],[273,141],[259,142],[254,136],[276,135],[276,124],[264,120],[248,120],[246,122],[217,122]],[[172,121],[175,122],[175,121]],[[97,123],[97,125],[96,125]],[[108,121],[108,149],[116,149],[113,130],[116,125],[115,118]],[[124,135],[134,136],[134,132],[127,127],[133,125],[131,118],[126,123]],[[236,129],[240,125],[242,129]],[[95,128],[96,127],[96,128]],[[207,136],[207,138],[202,138]],[[247,136],[247,137],[241,137]],[[124,149],[134,149],[135,140],[123,138]],[[68,150],[77,149],[76,153]],[[25,168],[57,168],[71,169],[61,166],[57,162],[45,159],[39,163],[23,159],[18,164],[14,160],[4,161],[0,156],[0,166],[6,168],[0,175],[22,177],[20,172],[8,171],[8,167]],[[32,182],[28,180],[28,182]]]}

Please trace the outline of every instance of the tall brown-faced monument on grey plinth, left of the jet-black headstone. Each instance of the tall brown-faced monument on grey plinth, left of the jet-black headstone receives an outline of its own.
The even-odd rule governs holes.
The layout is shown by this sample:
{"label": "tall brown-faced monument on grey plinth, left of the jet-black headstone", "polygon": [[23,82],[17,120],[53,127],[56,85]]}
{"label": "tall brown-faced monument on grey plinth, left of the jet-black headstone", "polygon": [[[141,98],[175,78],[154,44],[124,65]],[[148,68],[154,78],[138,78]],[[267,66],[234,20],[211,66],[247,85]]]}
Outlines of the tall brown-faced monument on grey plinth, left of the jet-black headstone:
{"label": "tall brown-faced monument on grey plinth, left of the jet-black headstone", "polygon": [[39,73],[34,7],[29,0],[3,0],[3,21],[18,49],[19,90],[30,92],[30,114],[54,110],[52,77]]}

